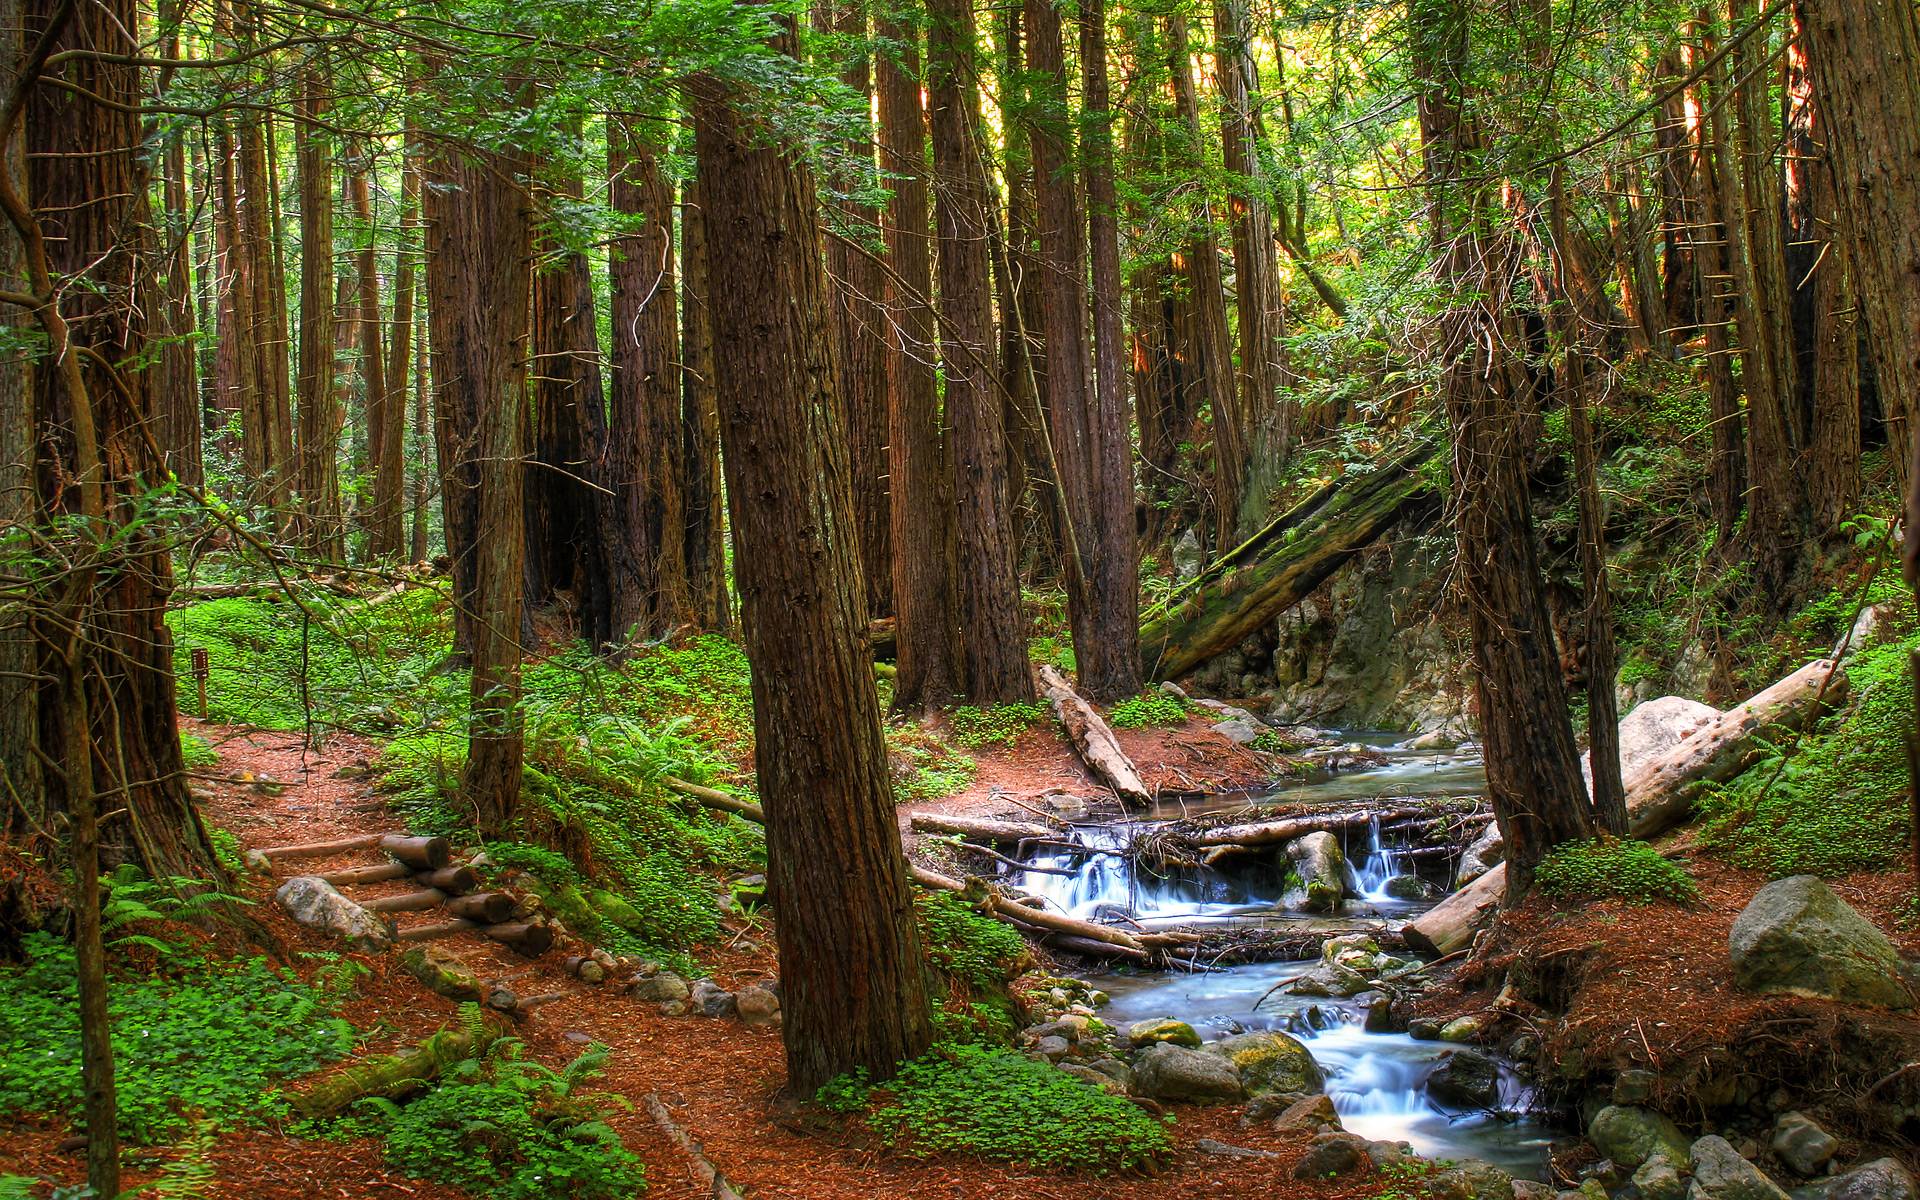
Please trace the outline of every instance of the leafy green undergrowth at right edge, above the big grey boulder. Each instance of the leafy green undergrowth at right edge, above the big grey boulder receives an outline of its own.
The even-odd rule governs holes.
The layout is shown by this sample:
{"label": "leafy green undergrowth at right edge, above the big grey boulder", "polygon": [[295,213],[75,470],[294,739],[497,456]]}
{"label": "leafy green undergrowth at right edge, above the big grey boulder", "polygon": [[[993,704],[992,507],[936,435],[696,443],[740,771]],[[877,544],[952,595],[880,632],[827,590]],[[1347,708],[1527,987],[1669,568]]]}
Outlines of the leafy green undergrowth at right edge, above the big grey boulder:
{"label": "leafy green undergrowth at right edge, above the big grey boulder", "polygon": [[1874,645],[1847,666],[1849,699],[1837,714],[1805,737],[1782,733],[1759,762],[1701,797],[1709,849],[1772,876],[1843,876],[1901,856],[1914,624],[1907,599],[1897,616],[1907,637]]}

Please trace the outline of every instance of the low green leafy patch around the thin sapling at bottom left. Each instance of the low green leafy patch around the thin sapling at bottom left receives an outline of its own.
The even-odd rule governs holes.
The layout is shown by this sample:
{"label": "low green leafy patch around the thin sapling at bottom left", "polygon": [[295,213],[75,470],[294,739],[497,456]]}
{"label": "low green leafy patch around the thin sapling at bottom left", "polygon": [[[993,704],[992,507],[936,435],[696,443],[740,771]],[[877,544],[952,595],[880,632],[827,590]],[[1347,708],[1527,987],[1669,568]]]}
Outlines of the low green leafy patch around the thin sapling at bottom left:
{"label": "low green leafy patch around the thin sapling at bottom left", "polygon": [[[81,1014],[73,948],[23,939],[25,964],[0,973],[0,1112],[67,1116],[81,1106]],[[273,1081],[353,1048],[328,1016],[338,996],[265,958],[173,960],[108,987],[121,1133],[157,1142],[194,1117],[261,1123],[286,1116]]]}

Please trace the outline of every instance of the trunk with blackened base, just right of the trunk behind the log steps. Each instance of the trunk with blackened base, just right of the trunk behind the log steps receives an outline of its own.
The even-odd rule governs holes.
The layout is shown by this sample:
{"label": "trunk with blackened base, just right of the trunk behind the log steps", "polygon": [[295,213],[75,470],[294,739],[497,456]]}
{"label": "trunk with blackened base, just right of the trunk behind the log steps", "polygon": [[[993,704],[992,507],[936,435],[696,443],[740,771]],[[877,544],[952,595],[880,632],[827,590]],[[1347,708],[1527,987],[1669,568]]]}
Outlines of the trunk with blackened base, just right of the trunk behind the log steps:
{"label": "trunk with blackened base, just right of the trunk behind the log steps", "polygon": [[[547,179],[559,200],[578,202],[578,175]],[[545,242],[541,238],[541,242]],[[526,603],[551,605],[570,593],[580,637],[612,645],[612,563],[603,474],[607,411],[601,399],[593,278],[584,253],[541,244],[557,257],[534,275],[532,457],[526,472]],[[522,630],[528,628],[522,618]]]}

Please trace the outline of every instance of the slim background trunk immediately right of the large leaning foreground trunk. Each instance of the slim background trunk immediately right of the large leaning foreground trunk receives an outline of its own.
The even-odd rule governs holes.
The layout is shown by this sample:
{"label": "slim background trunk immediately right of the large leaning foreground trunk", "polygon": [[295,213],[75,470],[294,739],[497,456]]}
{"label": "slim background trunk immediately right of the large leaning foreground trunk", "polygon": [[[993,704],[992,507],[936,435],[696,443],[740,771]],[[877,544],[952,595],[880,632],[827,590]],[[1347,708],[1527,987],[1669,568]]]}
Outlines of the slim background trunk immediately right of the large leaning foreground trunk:
{"label": "slim background trunk immediately right of the large leaning foreground trunk", "polygon": [[[868,6],[860,0],[822,0],[816,27],[833,31],[849,46],[868,44]],[[874,96],[874,60],[860,50],[841,71],[856,96]],[[849,146],[860,169],[872,169],[872,144]],[[872,180],[847,180],[868,184]],[[828,240],[828,278],[833,286],[833,332],[839,338],[841,397],[847,403],[847,436],[852,449],[852,516],[860,540],[866,609],[874,618],[893,616],[893,499],[887,413],[887,273],[874,259],[885,238],[877,213],[845,204],[835,213],[845,232]],[[852,242],[852,244],[849,244]],[[916,534],[918,536],[918,534]]]}

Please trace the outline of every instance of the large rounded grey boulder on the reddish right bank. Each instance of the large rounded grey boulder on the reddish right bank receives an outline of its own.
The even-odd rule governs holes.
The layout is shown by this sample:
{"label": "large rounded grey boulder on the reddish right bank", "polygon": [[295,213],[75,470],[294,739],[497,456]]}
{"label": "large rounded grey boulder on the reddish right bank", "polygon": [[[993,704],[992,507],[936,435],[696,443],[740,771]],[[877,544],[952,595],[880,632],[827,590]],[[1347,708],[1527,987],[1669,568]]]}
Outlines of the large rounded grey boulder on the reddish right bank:
{"label": "large rounded grey boulder on the reddish right bank", "polygon": [[1734,983],[1755,993],[1910,1008],[1899,950],[1814,876],[1774,879],[1734,918]]}

